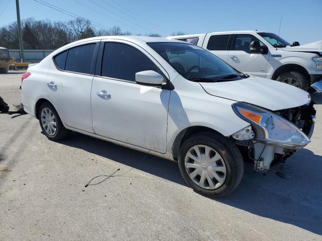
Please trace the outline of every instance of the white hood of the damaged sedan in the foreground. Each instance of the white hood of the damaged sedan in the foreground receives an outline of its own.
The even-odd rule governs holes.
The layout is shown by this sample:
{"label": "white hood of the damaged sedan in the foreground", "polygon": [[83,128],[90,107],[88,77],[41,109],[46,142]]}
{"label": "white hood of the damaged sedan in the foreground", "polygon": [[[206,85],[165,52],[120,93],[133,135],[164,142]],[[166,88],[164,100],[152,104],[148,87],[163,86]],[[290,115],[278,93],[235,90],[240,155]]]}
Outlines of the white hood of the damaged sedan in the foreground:
{"label": "white hood of the damaged sedan in the foreground", "polygon": [[211,95],[243,101],[272,111],[306,104],[309,94],[297,87],[275,80],[250,76],[247,79],[226,82],[200,82]]}

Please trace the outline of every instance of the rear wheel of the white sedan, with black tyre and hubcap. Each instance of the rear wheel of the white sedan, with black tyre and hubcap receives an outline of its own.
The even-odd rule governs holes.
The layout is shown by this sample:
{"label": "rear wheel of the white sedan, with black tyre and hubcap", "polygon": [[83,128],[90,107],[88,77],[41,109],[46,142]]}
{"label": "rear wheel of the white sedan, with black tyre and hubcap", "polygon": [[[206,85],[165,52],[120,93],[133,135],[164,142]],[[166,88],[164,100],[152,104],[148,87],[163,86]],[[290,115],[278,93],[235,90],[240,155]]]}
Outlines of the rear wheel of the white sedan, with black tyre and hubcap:
{"label": "rear wheel of the white sedan, with black tyre and hubcap", "polygon": [[40,105],[38,117],[40,127],[48,139],[58,141],[67,136],[69,131],[64,127],[56,109],[49,102]]}

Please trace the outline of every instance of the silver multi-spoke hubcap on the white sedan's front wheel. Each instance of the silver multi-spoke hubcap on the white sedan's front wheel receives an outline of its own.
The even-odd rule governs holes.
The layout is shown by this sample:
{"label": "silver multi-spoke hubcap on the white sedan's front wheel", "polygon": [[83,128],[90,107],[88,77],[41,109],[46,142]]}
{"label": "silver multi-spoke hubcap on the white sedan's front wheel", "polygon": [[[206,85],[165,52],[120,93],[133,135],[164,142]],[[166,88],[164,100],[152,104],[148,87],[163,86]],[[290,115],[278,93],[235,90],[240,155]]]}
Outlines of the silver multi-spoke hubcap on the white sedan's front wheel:
{"label": "silver multi-spoke hubcap on the white sedan's front wheel", "polygon": [[219,188],[226,179],[224,160],[209,146],[196,145],[190,148],[185,157],[185,168],[190,179],[204,189]]}

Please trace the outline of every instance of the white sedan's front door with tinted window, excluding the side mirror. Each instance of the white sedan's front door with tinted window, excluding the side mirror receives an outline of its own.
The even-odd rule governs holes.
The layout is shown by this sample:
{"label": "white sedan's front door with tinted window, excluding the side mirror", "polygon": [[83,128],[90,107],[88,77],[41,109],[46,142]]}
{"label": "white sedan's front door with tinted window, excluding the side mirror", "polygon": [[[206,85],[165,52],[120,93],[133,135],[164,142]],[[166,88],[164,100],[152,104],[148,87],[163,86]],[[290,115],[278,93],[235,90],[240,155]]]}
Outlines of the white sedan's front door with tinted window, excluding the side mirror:
{"label": "white sedan's front door with tinted window, excluding the side mirror", "polygon": [[154,70],[166,79],[166,71],[130,42],[105,41],[101,48],[92,86],[95,133],[165,153],[170,90],[136,84],[135,73]]}

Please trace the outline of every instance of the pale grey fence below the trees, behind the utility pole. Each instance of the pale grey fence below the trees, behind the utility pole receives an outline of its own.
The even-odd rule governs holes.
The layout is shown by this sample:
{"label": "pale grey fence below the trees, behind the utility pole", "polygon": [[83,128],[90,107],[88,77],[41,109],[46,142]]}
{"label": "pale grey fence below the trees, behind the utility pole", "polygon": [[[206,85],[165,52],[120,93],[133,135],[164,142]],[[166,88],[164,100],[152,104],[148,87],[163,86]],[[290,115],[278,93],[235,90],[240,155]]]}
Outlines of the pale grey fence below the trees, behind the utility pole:
{"label": "pale grey fence below the trees, behind the utility pole", "polygon": [[[25,49],[25,62],[39,63],[54,50],[51,49]],[[16,58],[16,62],[21,62],[20,49],[9,49],[10,57]]]}

